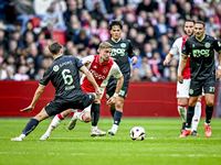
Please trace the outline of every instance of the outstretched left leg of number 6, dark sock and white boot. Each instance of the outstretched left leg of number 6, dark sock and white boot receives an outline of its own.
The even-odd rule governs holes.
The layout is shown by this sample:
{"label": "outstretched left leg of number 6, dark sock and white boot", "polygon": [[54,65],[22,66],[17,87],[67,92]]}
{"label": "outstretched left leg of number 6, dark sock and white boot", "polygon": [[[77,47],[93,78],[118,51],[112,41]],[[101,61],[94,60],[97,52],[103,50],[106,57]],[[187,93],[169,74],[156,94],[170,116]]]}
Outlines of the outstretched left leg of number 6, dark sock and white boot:
{"label": "outstretched left leg of number 6, dark sock and white boot", "polygon": [[42,120],[49,118],[49,114],[46,113],[45,109],[43,108],[40,113],[38,113],[34,118],[32,118],[25,125],[25,128],[22,131],[22,134],[20,136],[11,139],[11,141],[23,141],[29,133],[31,133],[41,122]]}

